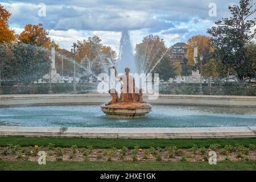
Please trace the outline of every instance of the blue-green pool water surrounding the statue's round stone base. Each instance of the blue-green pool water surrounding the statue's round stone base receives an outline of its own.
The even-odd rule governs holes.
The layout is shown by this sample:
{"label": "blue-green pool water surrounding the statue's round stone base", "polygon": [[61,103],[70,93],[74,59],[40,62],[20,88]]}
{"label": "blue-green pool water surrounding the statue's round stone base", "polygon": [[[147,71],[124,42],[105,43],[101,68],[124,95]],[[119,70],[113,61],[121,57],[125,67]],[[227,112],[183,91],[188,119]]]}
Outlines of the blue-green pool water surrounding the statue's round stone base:
{"label": "blue-green pool water surrounding the statue's round stone base", "polygon": [[256,126],[256,107],[153,105],[141,119],[108,119],[98,105],[0,107],[0,126]]}

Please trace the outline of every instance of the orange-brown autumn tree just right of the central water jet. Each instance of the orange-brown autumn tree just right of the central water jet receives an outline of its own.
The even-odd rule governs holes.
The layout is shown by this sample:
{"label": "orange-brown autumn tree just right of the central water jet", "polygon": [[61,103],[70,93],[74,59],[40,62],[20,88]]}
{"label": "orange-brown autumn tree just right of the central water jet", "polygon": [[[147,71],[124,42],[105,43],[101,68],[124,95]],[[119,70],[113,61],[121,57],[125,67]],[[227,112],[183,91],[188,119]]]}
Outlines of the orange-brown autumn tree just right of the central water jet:
{"label": "orange-brown autumn tree just right of the central water jet", "polygon": [[166,51],[167,47],[164,45],[164,40],[160,39],[159,36],[148,35],[144,37],[142,43],[137,44],[135,48],[138,72],[150,72],[155,64],[163,58]]}

